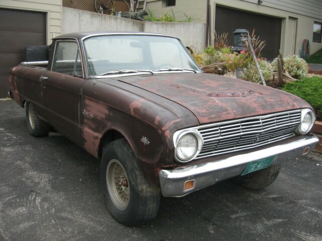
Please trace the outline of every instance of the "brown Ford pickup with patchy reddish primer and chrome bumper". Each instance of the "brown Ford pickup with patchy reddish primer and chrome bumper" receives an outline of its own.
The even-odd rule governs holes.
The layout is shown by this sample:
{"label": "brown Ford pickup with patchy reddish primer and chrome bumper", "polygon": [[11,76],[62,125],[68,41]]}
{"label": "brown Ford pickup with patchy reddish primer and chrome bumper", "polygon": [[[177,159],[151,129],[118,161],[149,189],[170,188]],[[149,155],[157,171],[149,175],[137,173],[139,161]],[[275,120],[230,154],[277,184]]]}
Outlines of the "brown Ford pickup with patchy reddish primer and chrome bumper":
{"label": "brown Ford pickup with patchy reddish primer and chrome bumper", "polygon": [[9,83],[31,135],[54,129],[101,160],[107,207],[126,225],[151,220],[160,195],[228,178],[264,188],[318,140],[304,100],[203,73],[166,35],[62,35],[48,62],[13,67]]}

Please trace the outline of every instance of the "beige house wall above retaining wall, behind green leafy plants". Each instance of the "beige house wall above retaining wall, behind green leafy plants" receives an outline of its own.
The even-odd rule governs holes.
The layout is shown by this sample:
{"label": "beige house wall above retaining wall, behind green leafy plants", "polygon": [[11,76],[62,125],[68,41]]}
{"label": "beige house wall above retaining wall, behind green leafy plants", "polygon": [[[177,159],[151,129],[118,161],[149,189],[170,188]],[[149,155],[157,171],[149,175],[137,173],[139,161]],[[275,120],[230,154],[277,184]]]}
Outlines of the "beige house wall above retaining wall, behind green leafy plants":
{"label": "beige house wall above retaining wall, behind green leafy plants", "polygon": [[147,1],[146,8],[155,11],[157,18],[164,13],[171,12],[172,9],[178,21],[186,20],[184,15],[186,14],[195,19],[193,22],[206,22],[207,0],[176,0],[176,6],[173,7],[166,7],[165,1],[150,0]]}

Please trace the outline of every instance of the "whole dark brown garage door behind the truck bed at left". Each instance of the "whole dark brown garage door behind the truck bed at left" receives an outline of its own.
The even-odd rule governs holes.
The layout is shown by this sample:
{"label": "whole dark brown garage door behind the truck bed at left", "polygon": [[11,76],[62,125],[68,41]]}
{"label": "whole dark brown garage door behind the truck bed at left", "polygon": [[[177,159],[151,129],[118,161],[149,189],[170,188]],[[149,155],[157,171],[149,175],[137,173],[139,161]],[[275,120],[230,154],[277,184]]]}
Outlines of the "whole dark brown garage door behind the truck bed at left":
{"label": "whole dark brown garage door behind the truck bed at left", "polygon": [[25,59],[25,47],[46,44],[46,14],[0,9],[0,98],[7,97],[9,69]]}

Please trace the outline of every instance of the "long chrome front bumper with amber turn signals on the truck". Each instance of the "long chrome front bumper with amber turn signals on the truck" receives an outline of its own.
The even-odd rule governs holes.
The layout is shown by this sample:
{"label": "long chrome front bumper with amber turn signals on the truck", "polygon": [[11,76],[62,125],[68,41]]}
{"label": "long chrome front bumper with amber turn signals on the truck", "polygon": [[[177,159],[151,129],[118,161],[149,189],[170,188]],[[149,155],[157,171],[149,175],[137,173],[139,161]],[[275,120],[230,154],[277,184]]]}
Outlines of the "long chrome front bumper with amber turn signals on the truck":
{"label": "long chrome front bumper with amber turn signals on the truck", "polygon": [[[313,151],[318,138],[314,135],[299,137],[285,144],[274,145],[262,150],[239,154],[194,166],[178,167],[173,170],[160,170],[159,180],[162,194],[166,197],[181,197],[216,182],[239,176],[253,161],[275,156],[272,165],[286,160],[294,160],[303,155],[305,148]],[[307,153],[306,153],[307,154]],[[232,154],[233,155],[233,154]],[[195,180],[194,187],[183,190],[185,182]]]}

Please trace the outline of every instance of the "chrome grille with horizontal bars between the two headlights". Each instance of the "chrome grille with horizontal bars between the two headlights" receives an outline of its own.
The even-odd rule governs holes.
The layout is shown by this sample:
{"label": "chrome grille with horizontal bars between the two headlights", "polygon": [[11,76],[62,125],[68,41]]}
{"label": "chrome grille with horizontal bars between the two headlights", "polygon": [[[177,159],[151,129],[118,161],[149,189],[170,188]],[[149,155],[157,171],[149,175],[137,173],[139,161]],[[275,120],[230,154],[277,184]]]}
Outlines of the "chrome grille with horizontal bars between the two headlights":
{"label": "chrome grille with horizontal bars between the two headlights", "polygon": [[292,110],[200,126],[198,132],[204,144],[196,159],[255,148],[292,137],[300,120],[301,110]]}

